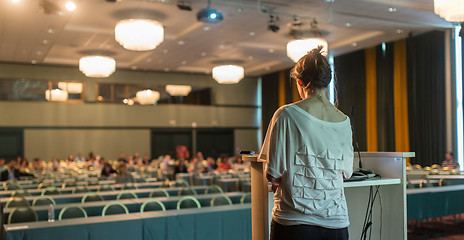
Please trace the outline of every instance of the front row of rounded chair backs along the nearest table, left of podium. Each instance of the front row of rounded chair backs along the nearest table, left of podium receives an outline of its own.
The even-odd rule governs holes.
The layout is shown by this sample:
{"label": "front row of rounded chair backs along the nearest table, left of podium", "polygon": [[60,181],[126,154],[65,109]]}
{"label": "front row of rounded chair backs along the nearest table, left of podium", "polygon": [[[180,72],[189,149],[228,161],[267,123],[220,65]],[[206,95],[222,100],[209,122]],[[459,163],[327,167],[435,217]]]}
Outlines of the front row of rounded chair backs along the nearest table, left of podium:
{"label": "front row of rounded chair backs along the nearest table, left of podium", "polygon": [[[251,202],[251,194],[246,193],[240,199],[240,203]],[[214,196],[210,202],[211,206],[232,205],[232,201],[227,195],[220,194]],[[185,208],[201,208],[201,204],[193,196],[184,196],[177,202],[177,209]],[[156,199],[149,199],[145,201],[141,207],[140,212],[150,211],[166,211],[166,207],[162,202]],[[112,202],[105,205],[102,210],[102,216],[115,215],[115,214],[129,214],[127,207],[119,202]],[[70,218],[86,218],[87,212],[80,206],[67,206],[60,211],[58,216],[59,220]],[[8,216],[8,224],[21,223],[21,222],[35,222],[38,220],[37,213],[28,205],[17,206]]]}

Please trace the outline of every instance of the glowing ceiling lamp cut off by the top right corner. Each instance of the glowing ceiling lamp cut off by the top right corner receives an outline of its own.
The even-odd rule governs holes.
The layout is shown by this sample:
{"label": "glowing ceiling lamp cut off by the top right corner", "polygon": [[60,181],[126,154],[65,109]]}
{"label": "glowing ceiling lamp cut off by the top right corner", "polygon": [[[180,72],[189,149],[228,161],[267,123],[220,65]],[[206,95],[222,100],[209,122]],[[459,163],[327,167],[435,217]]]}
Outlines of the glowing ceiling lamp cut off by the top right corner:
{"label": "glowing ceiling lamp cut off by the top right corner", "polygon": [[434,10],[448,22],[464,22],[463,0],[435,0]]}

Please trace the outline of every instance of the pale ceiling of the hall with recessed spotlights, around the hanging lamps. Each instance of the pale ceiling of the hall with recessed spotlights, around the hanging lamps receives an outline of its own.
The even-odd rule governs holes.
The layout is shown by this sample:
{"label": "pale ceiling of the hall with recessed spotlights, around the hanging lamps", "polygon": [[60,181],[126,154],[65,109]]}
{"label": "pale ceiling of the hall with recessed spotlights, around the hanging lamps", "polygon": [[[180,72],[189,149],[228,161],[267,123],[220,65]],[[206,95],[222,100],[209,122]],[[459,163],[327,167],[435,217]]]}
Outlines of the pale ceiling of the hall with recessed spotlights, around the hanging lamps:
{"label": "pale ceiling of the hall with recessed spotlights, around the hanging lamps", "polygon": [[[66,2],[0,0],[0,61],[77,68],[80,57],[103,51],[117,68],[210,73],[218,62],[237,61],[246,75],[258,76],[292,66],[285,47],[293,16],[303,30],[317,19],[333,55],[452,26],[433,13],[433,0],[213,0],[211,7],[224,14],[217,24],[196,21],[207,0],[191,0],[192,11],[179,10],[177,0],[75,0],[77,9],[62,7],[62,15],[44,13],[40,1]],[[267,30],[264,12],[279,16],[278,33]],[[125,50],[114,26],[142,13],[164,25],[165,40],[152,51]]]}

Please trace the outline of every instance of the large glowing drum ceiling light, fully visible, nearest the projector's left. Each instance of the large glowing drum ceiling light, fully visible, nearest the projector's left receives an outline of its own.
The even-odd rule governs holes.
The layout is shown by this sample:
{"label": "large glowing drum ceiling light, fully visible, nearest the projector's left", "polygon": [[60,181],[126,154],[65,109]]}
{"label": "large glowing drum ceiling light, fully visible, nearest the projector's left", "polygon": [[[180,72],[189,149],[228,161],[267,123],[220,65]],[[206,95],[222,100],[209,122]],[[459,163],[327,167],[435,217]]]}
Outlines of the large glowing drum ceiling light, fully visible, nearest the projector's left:
{"label": "large glowing drum ceiling light, fully visible, nearest the projector's left", "polygon": [[164,41],[163,25],[150,19],[121,20],[114,33],[121,46],[133,51],[153,50]]}

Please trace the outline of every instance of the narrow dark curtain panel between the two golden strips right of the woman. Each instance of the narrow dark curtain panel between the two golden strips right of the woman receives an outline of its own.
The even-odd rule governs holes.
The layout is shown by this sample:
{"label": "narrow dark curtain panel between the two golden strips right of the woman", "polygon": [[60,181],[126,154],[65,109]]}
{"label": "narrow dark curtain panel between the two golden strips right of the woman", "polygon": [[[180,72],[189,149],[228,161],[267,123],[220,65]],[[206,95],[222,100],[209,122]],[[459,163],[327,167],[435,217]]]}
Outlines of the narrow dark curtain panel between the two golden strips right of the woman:
{"label": "narrow dark curtain panel between the two golden strips right of the woman", "polygon": [[378,151],[395,151],[395,106],[393,102],[393,43],[376,47]]}

